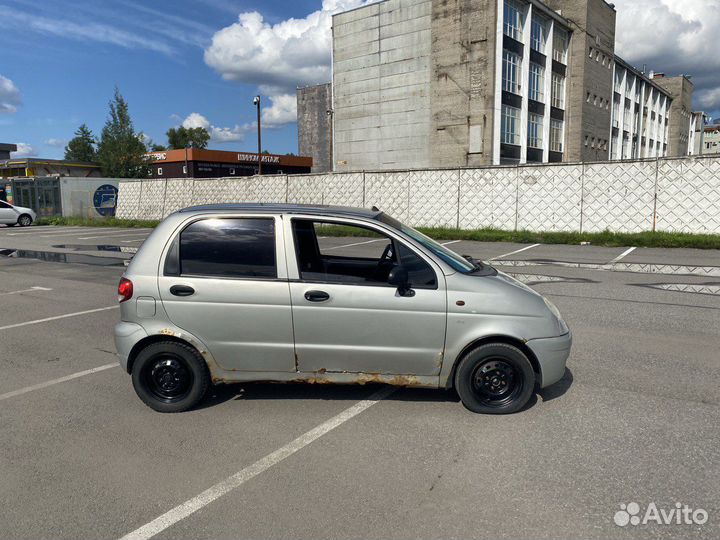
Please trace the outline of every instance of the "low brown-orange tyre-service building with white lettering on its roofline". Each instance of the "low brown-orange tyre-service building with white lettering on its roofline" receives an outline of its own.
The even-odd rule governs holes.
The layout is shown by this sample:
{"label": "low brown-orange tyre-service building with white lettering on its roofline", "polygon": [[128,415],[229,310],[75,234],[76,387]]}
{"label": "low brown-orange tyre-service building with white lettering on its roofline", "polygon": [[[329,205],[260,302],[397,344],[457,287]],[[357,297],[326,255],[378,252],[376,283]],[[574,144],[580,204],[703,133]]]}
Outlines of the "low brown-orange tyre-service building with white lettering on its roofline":
{"label": "low brown-orange tyre-service building with white lettering on its roofline", "polygon": [[[163,150],[146,154],[150,159],[149,178],[222,178],[226,176],[252,176],[258,174],[309,173],[312,158],[280,156],[205,148]],[[259,162],[259,160],[261,160]]]}

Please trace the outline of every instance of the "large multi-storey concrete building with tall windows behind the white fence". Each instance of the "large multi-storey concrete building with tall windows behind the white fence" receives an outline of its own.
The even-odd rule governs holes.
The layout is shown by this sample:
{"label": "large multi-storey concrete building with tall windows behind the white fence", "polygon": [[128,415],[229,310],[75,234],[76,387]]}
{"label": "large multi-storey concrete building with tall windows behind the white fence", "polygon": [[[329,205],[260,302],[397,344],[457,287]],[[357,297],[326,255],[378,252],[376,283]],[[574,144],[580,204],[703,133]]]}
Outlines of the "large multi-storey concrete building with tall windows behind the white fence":
{"label": "large multi-storey concrete building with tall windows behind the white fence", "polygon": [[335,15],[334,169],[687,155],[692,84],[617,58],[616,15],[604,0],[384,0]]}

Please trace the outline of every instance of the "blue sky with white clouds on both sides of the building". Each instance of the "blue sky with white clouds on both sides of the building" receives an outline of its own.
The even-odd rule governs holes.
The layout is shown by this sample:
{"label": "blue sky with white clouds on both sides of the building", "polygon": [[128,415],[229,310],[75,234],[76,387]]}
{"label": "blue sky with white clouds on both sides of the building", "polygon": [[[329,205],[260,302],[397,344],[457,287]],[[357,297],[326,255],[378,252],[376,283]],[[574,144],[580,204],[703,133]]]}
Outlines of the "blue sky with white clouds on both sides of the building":
{"label": "blue sky with white clouds on both sides of the building", "polygon": [[[295,89],[330,80],[334,12],[367,0],[0,0],[0,142],[62,158],[77,127],[100,134],[115,86],[159,144],[203,126],[209,147],[297,153]],[[720,118],[720,0],[614,0],[616,53],[692,75],[694,108]]]}

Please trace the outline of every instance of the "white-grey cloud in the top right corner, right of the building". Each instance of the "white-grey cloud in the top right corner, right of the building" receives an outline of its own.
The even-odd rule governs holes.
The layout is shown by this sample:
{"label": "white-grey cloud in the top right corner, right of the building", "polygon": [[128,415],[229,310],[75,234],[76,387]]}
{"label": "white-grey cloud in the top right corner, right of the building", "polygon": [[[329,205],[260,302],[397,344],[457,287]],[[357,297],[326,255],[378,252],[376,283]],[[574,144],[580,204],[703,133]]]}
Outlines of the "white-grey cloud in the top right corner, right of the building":
{"label": "white-grey cloud in the top right corner, right of the building", "polygon": [[720,111],[720,0],[615,0],[616,50],[667,75],[691,75],[695,107]]}

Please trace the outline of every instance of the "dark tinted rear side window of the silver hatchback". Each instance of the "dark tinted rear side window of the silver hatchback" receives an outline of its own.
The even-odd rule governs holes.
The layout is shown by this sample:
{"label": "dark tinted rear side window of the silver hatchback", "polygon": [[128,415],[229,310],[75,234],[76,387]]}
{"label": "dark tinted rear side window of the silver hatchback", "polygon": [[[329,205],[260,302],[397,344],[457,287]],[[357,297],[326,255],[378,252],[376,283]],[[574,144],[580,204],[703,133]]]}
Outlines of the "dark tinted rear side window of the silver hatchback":
{"label": "dark tinted rear side window of the silver hatchback", "polygon": [[271,218],[196,221],[180,233],[180,273],[277,277],[275,221]]}

